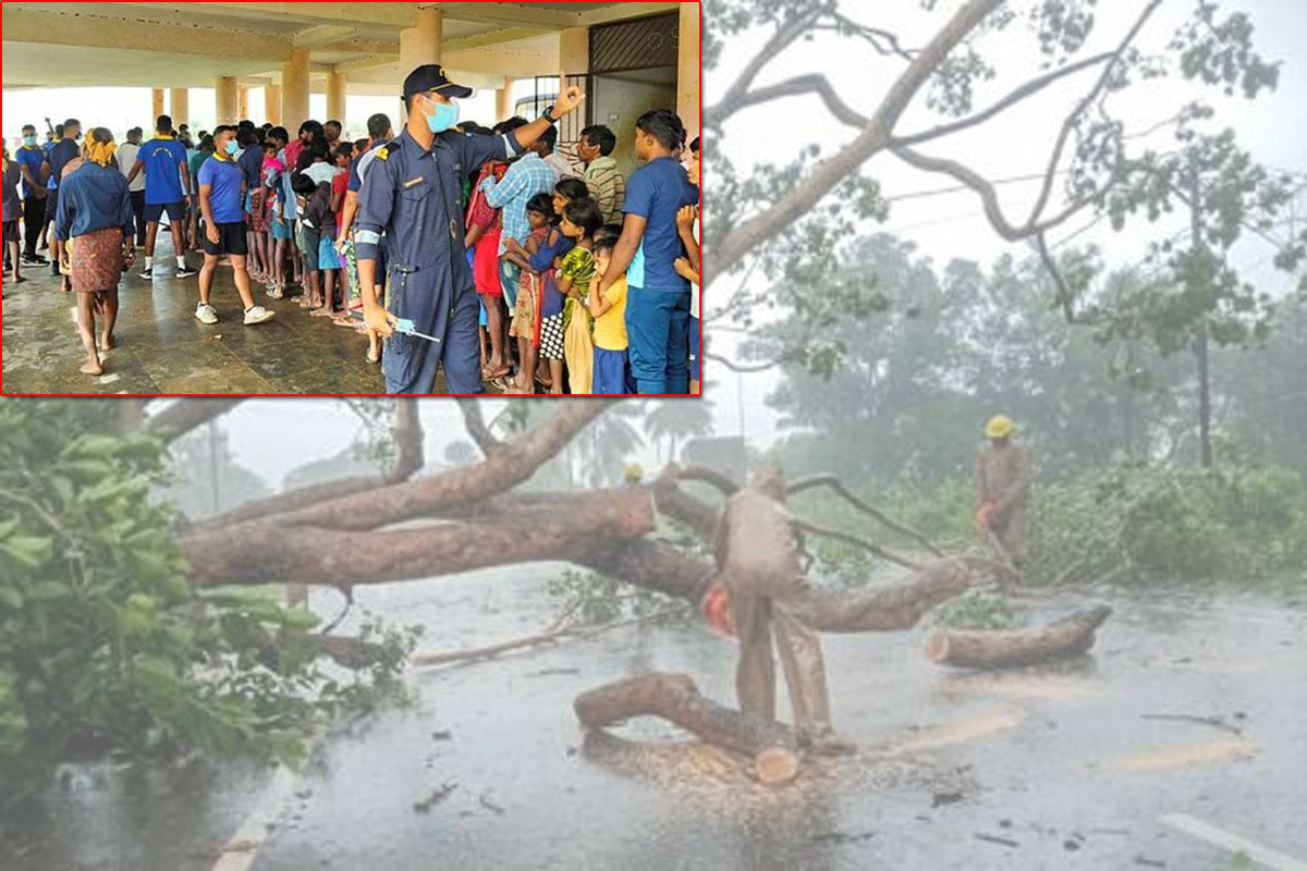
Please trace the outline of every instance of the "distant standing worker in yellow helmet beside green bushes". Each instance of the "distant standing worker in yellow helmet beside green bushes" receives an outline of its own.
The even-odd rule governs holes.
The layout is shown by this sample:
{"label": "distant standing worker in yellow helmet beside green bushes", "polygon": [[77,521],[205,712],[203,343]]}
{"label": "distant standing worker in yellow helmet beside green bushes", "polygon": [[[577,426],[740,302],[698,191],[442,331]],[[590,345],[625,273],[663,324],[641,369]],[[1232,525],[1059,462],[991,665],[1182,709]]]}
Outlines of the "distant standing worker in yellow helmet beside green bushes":
{"label": "distant standing worker in yellow helmet beside green bushes", "polygon": [[985,423],[988,443],[976,456],[976,528],[992,531],[1019,568],[1025,556],[1030,453],[1012,440],[1016,431],[1016,424],[1001,414]]}

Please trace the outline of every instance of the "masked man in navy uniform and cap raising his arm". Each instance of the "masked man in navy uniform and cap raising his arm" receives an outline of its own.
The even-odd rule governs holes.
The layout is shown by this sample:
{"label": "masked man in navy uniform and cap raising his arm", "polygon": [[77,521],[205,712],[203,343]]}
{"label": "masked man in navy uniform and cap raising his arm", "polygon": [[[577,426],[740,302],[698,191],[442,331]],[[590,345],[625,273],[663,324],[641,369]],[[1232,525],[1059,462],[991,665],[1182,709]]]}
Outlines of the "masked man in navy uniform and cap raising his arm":
{"label": "masked man in navy uniform and cap raising his arm", "polygon": [[[463,179],[486,161],[521,154],[583,99],[580,89],[569,87],[538,120],[505,136],[480,136],[455,128],[455,101],[471,94],[437,64],[409,73],[408,124],[378,149],[358,193],[354,240],[363,317],[388,340],[387,393],[430,393],[442,360],[450,393],[481,392],[480,307],[463,248]],[[383,232],[388,276],[379,277]],[[378,278],[387,282],[384,302],[376,298]]]}

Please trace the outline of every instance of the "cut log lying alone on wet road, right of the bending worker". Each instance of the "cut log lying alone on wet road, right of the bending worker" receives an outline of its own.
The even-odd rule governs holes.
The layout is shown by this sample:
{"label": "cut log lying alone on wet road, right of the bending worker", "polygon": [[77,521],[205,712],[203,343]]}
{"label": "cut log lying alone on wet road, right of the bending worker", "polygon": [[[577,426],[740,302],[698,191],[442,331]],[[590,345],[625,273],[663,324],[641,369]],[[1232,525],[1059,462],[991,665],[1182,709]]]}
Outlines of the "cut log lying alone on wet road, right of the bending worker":
{"label": "cut log lying alone on wet road, right of the bending worker", "polygon": [[925,641],[933,662],[959,669],[1010,669],[1085,653],[1094,633],[1112,612],[1106,605],[1077,611],[1048,626],[1029,629],[938,629]]}

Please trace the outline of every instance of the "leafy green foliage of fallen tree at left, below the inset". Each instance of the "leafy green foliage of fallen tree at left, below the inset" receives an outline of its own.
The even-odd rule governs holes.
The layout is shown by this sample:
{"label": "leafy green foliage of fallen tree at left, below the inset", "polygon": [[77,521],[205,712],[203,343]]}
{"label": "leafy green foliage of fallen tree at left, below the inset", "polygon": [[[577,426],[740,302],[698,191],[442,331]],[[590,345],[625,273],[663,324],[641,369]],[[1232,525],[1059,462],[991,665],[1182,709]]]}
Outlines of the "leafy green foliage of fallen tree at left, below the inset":
{"label": "leafy green foliage of fallen tree at left, below the inset", "polygon": [[324,716],[388,692],[401,639],[332,684],[311,614],[260,590],[192,592],[176,517],[150,498],[167,452],[106,419],[80,401],[0,402],[0,769],[190,748],[294,761]]}

